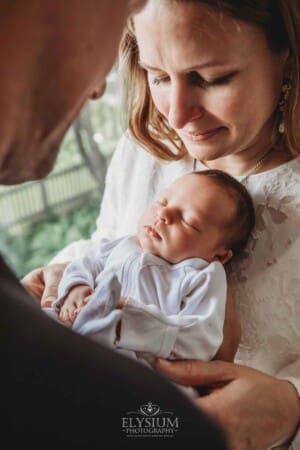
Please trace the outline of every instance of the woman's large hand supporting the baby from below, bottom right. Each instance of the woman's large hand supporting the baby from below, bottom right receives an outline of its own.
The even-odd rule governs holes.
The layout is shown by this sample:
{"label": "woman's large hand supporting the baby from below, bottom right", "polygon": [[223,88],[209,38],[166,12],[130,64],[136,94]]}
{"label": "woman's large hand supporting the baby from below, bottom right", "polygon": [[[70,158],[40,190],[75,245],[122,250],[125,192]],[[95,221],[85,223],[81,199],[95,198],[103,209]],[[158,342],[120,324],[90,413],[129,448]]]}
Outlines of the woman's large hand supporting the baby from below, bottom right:
{"label": "woman's large hand supporting the baby from below, bottom right", "polygon": [[158,359],[156,368],[179,384],[210,388],[195,402],[225,429],[230,450],[266,450],[297,430],[300,403],[288,381],[223,361]]}

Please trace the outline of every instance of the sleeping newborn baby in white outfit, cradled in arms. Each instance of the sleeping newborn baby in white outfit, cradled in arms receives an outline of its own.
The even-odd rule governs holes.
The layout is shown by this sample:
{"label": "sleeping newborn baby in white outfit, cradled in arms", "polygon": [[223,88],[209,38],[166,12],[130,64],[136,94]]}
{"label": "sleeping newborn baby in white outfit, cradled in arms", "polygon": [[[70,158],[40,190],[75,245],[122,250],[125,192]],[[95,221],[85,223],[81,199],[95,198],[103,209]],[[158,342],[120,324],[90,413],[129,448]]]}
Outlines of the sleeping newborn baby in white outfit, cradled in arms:
{"label": "sleeping newborn baby in white outfit, cradled in arms", "polygon": [[226,264],[254,226],[252,200],[218,170],[192,172],[141,216],[137,235],[70,263],[48,313],[136,359],[212,359],[223,341]]}

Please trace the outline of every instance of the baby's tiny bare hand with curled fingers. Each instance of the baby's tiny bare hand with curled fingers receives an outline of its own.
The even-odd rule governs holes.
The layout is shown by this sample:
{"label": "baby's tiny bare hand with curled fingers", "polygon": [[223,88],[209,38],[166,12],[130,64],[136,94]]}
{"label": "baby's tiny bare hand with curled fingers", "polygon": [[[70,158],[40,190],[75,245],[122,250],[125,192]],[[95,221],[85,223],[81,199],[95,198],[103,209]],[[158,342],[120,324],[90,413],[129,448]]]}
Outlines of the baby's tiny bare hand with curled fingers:
{"label": "baby's tiny bare hand with curled fingers", "polygon": [[72,326],[80,310],[89,301],[93,290],[84,284],[74,286],[65,298],[60,309],[59,318],[66,325]]}

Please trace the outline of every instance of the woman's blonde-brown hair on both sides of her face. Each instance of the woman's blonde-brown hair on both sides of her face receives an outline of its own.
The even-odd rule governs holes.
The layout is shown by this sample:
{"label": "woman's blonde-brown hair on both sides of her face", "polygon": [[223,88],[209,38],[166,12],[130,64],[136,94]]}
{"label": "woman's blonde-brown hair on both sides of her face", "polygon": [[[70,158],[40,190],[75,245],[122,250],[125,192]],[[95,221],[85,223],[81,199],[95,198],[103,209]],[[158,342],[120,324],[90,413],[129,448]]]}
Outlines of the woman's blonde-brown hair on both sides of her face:
{"label": "woman's blonde-brown hair on both sides of her face", "polygon": [[[166,1],[166,0],[162,0]],[[299,0],[168,0],[202,3],[260,28],[274,52],[289,50],[291,91],[285,105],[282,139],[300,154],[300,1]],[[120,44],[120,67],[128,128],[132,136],[156,157],[172,161],[186,154],[183,142],[157,110],[148,87],[147,73],[139,65],[133,20],[129,19]],[[278,108],[276,125],[282,119]],[[171,145],[170,145],[171,144]]]}

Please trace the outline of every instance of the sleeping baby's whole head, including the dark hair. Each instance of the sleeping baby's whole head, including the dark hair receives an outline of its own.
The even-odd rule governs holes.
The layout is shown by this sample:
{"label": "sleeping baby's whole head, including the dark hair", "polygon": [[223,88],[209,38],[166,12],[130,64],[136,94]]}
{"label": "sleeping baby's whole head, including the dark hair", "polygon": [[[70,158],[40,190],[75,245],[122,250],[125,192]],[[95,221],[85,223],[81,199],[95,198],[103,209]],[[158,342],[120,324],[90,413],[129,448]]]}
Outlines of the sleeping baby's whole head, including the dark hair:
{"label": "sleeping baby's whole head, including the dark hair", "polygon": [[239,253],[254,227],[247,190],[230,175],[205,170],[184,175],[142,215],[142,248],[177,263],[202,258],[225,264]]}

